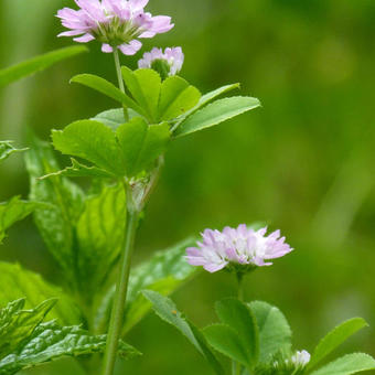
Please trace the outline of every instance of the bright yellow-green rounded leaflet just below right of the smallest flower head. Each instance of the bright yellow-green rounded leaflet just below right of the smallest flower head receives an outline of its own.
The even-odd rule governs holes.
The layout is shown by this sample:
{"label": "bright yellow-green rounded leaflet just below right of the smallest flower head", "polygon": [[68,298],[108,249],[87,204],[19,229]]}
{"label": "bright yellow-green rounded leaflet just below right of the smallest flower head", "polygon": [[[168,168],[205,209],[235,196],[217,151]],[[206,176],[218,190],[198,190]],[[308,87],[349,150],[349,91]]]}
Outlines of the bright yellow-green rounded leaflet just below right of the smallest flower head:
{"label": "bright yellow-green rounded leaflet just below right of the smallest flower head", "polygon": [[193,108],[201,93],[185,79],[172,76],[161,85],[158,121],[171,120]]}

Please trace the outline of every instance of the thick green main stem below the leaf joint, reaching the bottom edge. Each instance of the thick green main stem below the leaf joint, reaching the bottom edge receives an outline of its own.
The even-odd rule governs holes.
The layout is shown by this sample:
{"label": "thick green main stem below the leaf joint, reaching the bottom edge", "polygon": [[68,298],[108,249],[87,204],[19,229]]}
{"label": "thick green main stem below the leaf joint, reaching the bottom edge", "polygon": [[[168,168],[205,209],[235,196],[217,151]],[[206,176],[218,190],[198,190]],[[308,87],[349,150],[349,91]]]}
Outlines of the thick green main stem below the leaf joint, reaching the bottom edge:
{"label": "thick green main stem below the leaf joint, reaching the bottom edge", "polygon": [[[131,193],[130,193],[131,194]],[[127,196],[127,200],[131,200],[131,196]],[[104,357],[103,375],[113,375],[118,341],[121,334],[121,326],[124,322],[125,302],[128,290],[128,280],[130,274],[131,256],[133,251],[133,244],[136,238],[138,224],[138,213],[132,210],[128,210],[127,213],[127,225],[126,225],[126,237],[125,237],[125,248],[120,260],[120,274],[117,280],[116,293],[114,300],[114,307],[110,315],[107,347]]]}

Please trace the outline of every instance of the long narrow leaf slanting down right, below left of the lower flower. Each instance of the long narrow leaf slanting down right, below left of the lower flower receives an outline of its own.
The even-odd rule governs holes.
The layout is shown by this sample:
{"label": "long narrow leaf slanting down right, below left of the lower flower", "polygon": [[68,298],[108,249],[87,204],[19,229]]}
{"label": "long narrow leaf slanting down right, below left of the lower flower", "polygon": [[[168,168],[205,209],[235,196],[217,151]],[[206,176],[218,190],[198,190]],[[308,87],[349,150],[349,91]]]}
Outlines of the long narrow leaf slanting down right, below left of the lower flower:
{"label": "long narrow leaf slanting down right, below left of the lower flower", "polygon": [[176,328],[205,357],[216,374],[224,374],[224,369],[211,351],[202,333],[176,309],[174,302],[152,290],[143,290],[143,296],[152,303],[156,313],[169,324]]}

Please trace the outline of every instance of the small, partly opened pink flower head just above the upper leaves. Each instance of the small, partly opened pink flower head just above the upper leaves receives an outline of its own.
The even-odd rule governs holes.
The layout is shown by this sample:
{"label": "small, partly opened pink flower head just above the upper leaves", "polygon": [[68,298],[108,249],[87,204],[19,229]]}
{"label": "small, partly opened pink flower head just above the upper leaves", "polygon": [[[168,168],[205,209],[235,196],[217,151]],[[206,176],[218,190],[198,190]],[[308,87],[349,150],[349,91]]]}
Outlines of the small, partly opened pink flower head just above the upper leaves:
{"label": "small, partly opened pink flower head just above the upper leaves", "polygon": [[143,57],[138,62],[138,67],[154,68],[159,73],[164,71],[162,75],[172,76],[181,71],[183,61],[184,54],[181,47],[168,47],[164,52],[154,47],[143,54]]}

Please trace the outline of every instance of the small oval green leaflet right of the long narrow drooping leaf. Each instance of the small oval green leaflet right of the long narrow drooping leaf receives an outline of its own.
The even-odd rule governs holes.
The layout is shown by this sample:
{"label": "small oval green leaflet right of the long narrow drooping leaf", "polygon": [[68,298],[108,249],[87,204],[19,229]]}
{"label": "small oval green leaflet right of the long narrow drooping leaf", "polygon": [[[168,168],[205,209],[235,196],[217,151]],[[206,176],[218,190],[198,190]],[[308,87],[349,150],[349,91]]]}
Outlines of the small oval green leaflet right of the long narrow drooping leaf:
{"label": "small oval green leaflet right of the long narrow drooping leaf", "polygon": [[244,342],[233,328],[225,324],[213,324],[206,326],[203,333],[210,345],[217,352],[239,362],[246,367],[250,367],[251,364],[249,363]]}

